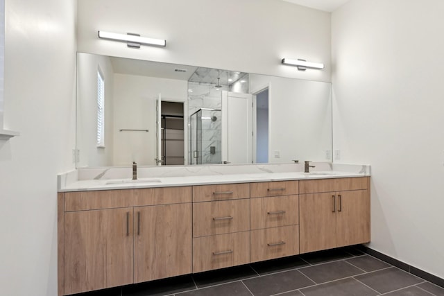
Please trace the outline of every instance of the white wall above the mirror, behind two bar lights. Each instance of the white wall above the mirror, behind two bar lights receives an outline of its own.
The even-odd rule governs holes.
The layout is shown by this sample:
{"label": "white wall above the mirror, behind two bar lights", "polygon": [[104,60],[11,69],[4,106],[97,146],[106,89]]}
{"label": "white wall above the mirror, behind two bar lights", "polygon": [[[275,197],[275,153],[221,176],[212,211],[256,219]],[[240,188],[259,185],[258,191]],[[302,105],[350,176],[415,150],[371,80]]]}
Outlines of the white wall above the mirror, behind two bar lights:
{"label": "white wall above the mirror, behind two bar lights", "polygon": [[[139,33],[166,48],[99,40]],[[278,0],[78,0],[78,51],[216,69],[330,81],[330,13]],[[324,62],[298,71],[282,58]]]}

